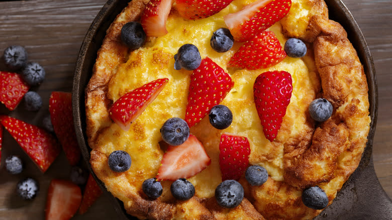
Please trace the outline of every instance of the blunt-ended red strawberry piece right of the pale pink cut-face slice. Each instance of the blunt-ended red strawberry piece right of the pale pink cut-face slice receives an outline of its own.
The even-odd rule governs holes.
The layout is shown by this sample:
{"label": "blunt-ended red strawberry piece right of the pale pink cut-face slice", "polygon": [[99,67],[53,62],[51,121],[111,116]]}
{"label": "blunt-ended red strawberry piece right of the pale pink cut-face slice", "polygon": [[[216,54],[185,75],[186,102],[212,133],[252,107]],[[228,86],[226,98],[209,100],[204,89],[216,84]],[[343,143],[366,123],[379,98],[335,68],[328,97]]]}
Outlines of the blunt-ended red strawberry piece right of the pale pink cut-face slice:
{"label": "blunt-ended red strawberry piece right of the pale pink cut-face slice", "polygon": [[249,164],[250,145],[245,137],[222,134],[219,143],[222,181],[239,179]]}

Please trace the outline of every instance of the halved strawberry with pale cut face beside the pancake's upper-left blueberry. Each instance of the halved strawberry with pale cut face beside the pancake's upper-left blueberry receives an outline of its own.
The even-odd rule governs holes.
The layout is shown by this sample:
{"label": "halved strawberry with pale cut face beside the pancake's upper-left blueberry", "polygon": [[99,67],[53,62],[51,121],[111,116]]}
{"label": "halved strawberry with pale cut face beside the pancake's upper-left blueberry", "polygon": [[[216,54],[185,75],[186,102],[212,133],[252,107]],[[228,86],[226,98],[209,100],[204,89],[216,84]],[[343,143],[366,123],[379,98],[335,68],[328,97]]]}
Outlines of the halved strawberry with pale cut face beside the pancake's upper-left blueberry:
{"label": "halved strawberry with pale cut face beside the pancake's upper-left blueberry", "polygon": [[166,20],[174,0],[151,0],[140,18],[143,30],[149,37],[160,37],[167,34]]}

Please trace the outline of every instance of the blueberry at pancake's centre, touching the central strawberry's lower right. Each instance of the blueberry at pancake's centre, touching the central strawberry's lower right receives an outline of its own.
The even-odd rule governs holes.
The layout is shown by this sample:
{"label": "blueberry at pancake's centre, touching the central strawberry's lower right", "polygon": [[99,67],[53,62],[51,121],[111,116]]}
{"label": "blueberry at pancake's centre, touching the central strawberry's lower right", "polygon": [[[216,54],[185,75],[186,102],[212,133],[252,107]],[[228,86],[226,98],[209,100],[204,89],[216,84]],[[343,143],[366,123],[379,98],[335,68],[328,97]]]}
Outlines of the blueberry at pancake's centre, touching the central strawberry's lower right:
{"label": "blueberry at pancake's centre, touching the central strawberry's lower right", "polygon": [[216,129],[225,129],[233,122],[233,114],[230,109],[223,104],[218,104],[212,107],[208,116],[210,118],[211,125]]}

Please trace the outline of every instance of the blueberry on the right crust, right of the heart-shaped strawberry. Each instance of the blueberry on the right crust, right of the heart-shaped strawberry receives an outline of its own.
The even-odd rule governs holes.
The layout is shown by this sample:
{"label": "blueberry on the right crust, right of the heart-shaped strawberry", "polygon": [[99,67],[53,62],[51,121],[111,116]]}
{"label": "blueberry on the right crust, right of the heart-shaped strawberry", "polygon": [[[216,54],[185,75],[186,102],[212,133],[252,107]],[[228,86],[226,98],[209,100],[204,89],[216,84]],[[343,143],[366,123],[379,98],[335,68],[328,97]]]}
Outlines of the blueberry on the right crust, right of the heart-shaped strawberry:
{"label": "blueberry on the right crust, right of the heart-shaped strawberry", "polygon": [[325,98],[317,98],[309,105],[309,114],[318,122],[327,121],[332,116],[333,110],[331,102]]}

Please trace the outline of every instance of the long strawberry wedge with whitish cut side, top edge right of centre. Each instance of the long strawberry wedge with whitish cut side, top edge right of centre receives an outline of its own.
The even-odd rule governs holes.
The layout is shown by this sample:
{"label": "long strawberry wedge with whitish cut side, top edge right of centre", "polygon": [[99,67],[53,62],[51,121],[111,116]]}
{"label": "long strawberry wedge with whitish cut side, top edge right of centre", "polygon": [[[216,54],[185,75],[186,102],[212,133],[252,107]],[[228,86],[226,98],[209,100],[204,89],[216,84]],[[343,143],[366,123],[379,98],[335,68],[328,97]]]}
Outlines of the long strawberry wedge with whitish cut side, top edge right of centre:
{"label": "long strawberry wedge with whitish cut side, top edge right of centre", "polygon": [[236,41],[247,41],[265,31],[287,15],[290,0],[259,0],[241,11],[224,17],[226,26]]}

